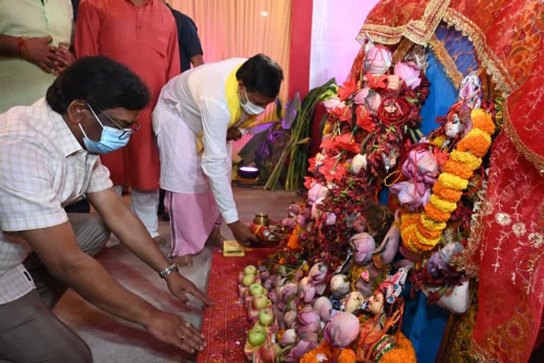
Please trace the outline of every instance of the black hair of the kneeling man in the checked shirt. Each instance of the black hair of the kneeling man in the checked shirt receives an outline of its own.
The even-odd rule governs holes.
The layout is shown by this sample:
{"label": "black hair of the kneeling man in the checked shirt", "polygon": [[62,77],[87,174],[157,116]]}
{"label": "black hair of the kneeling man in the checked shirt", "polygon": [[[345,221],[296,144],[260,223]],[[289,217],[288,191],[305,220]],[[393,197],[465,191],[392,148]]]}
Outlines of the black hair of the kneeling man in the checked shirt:
{"label": "black hair of the kneeling man in the checked shirt", "polygon": [[47,89],[47,104],[64,114],[74,100],[102,110],[138,111],[149,104],[149,89],[134,72],[108,57],[83,57],[64,69]]}

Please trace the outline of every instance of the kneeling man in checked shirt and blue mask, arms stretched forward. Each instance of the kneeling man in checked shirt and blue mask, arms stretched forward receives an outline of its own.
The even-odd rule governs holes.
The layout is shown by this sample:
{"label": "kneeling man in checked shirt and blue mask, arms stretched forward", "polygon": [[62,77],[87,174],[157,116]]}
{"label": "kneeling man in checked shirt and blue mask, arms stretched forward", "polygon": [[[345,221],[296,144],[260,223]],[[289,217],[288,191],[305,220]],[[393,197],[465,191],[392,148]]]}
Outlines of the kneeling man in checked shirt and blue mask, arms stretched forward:
{"label": "kneeling man in checked shirt and blue mask, arms stretched forward", "polygon": [[[68,287],[181,350],[205,347],[191,323],[132,294],[92,257],[115,233],[182,306],[188,294],[210,304],[113,191],[99,158],[125,147],[149,101],[130,69],[86,57],[64,69],[45,99],[0,115],[0,362],[92,362],[51,310]],[[66,213],[62,206],[82,195],[96,213]]]}

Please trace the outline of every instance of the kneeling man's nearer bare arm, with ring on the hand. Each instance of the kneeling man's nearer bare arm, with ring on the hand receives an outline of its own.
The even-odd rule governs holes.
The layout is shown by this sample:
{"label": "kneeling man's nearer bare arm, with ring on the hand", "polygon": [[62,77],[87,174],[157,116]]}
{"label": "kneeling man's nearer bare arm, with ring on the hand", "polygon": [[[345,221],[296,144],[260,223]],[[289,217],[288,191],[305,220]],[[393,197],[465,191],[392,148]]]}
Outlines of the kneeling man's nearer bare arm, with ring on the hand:
{"label": "kneeling man's nearer bare arm, with ring on the hand", "polygon": [[195,328],[187,327],[179,316],[159,311],[132,294],[118,284],[94,258],[79,250],[69,222],[25,230],[21,235],[54,277],[66,282],[94,306],[138,323],[159,340],[187,352],[203,349],[203,338]]}

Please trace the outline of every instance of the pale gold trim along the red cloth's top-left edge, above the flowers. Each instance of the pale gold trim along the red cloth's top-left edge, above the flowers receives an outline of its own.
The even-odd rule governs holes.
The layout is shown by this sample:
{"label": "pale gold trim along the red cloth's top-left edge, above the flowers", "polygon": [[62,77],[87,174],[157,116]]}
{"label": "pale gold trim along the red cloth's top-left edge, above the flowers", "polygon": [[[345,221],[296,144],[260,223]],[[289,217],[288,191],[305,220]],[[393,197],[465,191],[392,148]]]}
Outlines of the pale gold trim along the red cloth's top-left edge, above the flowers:
{"label": "pale gold trim along the red cloth's top-left edge, above the flowers", "polygon": [[365,35],[370,35],[373,41],[382,44],[397,44],[404,36],[419,45],[427,45],[429,39],[444,17],[450,0],[431,0],[425,9],[421,20],[411,20],[403,26],[381,26],[377,24],[365,24],[357,40],[364,40]]}

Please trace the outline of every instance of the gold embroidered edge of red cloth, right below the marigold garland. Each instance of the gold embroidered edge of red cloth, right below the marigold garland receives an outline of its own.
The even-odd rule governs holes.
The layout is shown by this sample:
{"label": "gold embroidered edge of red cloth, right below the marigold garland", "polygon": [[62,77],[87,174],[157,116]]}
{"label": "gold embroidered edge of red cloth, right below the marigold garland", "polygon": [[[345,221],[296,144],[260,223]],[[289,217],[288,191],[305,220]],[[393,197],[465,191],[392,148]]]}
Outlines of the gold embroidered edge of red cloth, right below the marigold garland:
{"label": "gold embroidered edge of red cloth, right below the marigold garland", "polygon": [[486,199],[487,194],[487,176],[489,169],[485,169],[485,177],[480,190],[477,191],[477,201],[472,208],[472,216],[470,216],[470,236],[467,239],[467,247],[459,257],[453,257],[453,264],[458,268],[458,271],[466,272],[467,276],[478,279],[480,273],[480,265],[474,261],[474,256],[480,250],[480,244],[484,232],[484,217],[487,213]]}

